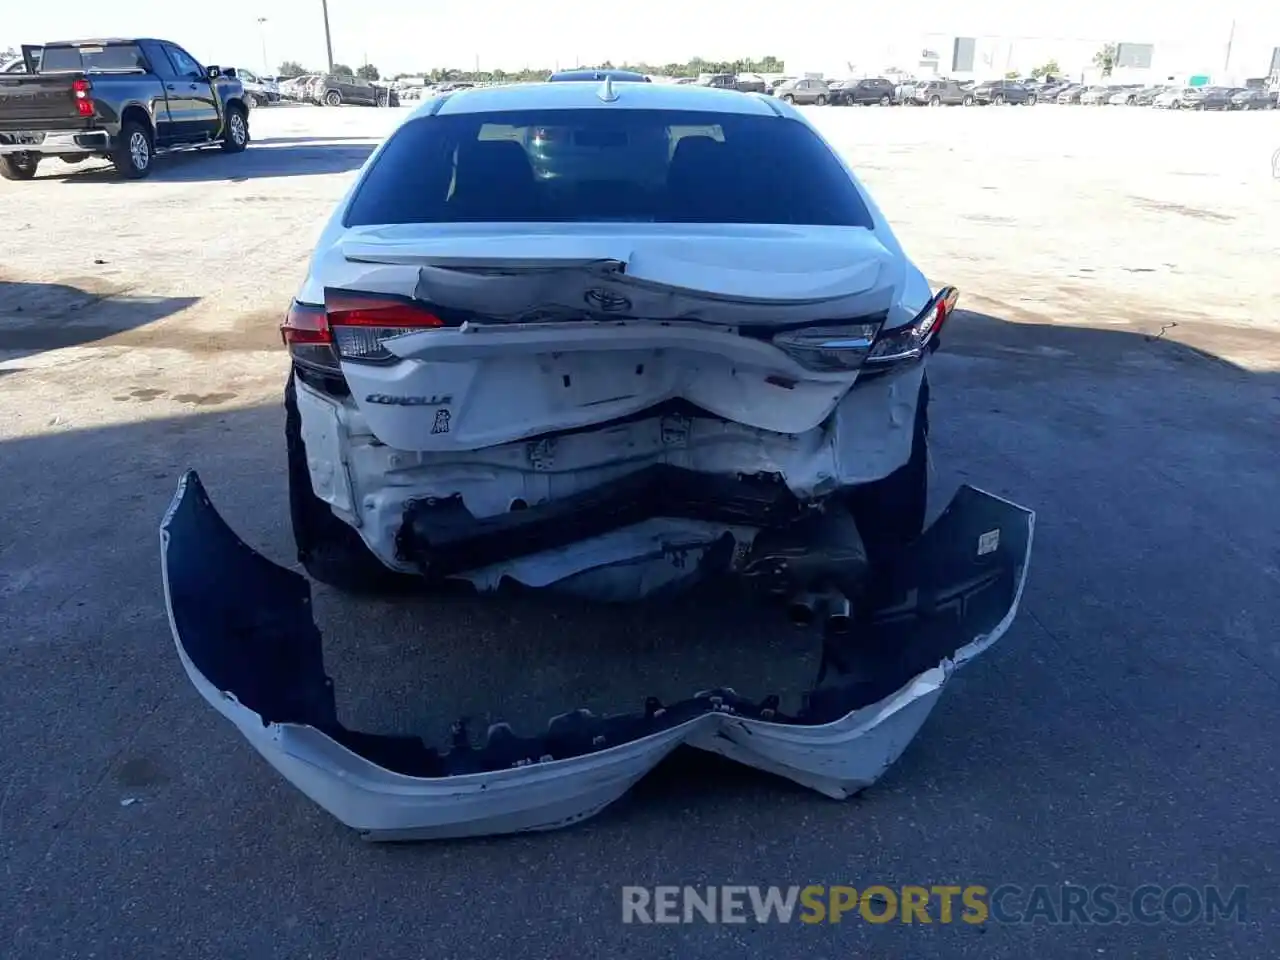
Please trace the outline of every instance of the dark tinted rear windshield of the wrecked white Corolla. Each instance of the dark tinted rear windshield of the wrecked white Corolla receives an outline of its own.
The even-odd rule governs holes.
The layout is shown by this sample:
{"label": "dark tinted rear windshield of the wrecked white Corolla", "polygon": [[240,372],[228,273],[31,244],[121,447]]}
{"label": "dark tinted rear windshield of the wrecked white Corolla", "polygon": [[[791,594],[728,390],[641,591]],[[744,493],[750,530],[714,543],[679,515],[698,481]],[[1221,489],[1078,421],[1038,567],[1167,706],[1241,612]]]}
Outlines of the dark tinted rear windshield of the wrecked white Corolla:
{"label": "dark tinted rear windshield of the wrecked white Corolla", "polygon": [[609,220],[872,227],[858,188],[803,123],[630,109],[410,120],[346,224]]}

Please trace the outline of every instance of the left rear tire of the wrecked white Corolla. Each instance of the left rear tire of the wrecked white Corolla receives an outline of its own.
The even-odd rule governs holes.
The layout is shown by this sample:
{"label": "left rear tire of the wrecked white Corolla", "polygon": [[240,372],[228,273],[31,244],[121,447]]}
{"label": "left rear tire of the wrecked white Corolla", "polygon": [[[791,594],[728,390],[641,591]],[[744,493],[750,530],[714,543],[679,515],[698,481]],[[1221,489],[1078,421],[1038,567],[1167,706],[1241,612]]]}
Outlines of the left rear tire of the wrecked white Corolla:
{"label": "left rear tire of the wrecked white Corolla", "polygon": [[289,471],[289,518],[298,563],[307,575],[326,586],[349,594],[388,595],[420,588],[421,580],[388,570],[360,539],[360,534],[334,516],[315,494],[302,444],[302,415],[298,413],[297,381],[289,374],[284,388],[284,445]]}

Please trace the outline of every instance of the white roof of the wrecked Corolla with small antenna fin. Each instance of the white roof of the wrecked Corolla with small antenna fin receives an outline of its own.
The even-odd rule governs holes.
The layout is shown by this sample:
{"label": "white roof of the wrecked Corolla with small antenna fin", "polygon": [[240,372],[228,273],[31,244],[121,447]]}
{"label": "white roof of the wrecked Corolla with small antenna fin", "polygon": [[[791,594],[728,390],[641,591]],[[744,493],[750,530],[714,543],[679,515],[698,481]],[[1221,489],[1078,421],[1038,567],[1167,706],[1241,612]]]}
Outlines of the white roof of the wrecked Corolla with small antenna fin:
{"label": "white roof of the wrecked Corolla with small antenna fin", "polygon": [[499,113],[503,110],[586,110],[608,106],[614,110],[694,110],[700,113],[781,115],[781,108],[763,93],[740,93],[684,83],[618,83],[613,99],[600,93],[604,83],[544,82],[512,83],[461,90],[429,100],[412,116]]}

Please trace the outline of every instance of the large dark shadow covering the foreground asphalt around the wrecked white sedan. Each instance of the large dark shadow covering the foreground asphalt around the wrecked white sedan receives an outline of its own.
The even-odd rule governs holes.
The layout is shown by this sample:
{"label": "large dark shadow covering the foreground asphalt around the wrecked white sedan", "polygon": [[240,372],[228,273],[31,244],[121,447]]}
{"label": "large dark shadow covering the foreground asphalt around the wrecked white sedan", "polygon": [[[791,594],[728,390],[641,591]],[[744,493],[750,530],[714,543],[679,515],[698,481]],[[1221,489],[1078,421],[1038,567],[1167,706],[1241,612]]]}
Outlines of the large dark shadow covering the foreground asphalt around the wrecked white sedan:
{"label": "large dark shadow covering the foreground asphalt around the wrecked white sedan", "polygon": [[[164,416],[0,444],[3,942],[110,954],[161,928],[223,956],[346,955],[369,952],[376,913],[397,943],[481,956],[500,934],[508,960],[701,960],[730,933],[751,955],[1268,955],[1280,378],[1114,330],[951,324],[931,367],[937,499],[968,481],[1038,511],[1028,593],[897,767],[845,804],[685,755],[567,831],[364,846],[191,690],[161,602],[157,526],[187,467],[291,563],[278,406],[157,402]],[[6,403],[20,389],[0,381]],[[475,710],[518,728],[584,696],[630,708],[673,678],[767,690],[803,646],[696,602],[632,616],[315,594],[343,719],[431,739]],[[618,922],[622,884],[1066,879],[1245,884],[1251,923]]]}

